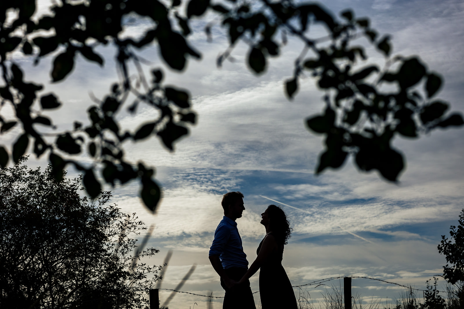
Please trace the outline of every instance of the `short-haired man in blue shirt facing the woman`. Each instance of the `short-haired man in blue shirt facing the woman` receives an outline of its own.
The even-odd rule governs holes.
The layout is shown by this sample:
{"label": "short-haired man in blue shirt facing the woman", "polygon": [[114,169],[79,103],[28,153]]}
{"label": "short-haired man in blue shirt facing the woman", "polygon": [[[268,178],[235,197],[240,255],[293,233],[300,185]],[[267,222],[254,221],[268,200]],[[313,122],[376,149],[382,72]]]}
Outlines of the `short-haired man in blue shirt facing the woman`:
{"label": "short-haired man in blue shirt facing the woman", "polygon": [[248,261],[243,252],[242,239],[235,220],[245,210],[243,194],[229,192],[222,198],[224,217],[214,232],[214,240],[209,250],[209,260],[221,277],[221,286],[226,290],[223,309],[256,309],[250,281],[236,284],[248,270]]}

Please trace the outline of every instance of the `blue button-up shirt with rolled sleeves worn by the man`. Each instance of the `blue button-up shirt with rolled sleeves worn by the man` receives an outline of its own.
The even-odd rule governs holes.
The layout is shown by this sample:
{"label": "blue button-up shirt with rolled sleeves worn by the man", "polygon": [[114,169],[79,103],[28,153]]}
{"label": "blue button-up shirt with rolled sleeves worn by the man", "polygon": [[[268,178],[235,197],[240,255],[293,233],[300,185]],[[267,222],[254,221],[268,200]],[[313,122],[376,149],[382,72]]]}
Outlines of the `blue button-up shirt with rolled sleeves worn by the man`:
{"label": "blue button-up shirt with rolled sleeves worn by the man", "polygon": [[218,255],[224,269],[243,267],[248,269],[246,254],[243,252],[242,239],[237,222],[224,216],[214,232],[214,240],[209,255]]}

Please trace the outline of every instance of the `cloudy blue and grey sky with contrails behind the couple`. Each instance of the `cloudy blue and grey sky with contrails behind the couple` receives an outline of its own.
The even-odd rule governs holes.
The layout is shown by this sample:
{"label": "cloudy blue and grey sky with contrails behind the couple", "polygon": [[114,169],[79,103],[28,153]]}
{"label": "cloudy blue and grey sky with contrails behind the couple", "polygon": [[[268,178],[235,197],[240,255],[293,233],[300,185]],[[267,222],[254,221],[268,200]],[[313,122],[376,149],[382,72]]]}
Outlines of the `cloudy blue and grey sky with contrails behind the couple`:
{"label": "cloudy blue and grey sky with contrails behind the couple", "polygon": [[[45,12],[49,2],[40,3],[39,11]],[[394,54],[419,55],[445,79],[439,97],[449,101],[452,110],[464,112],[462,1],[330,0],[324,5],[334,14],[353,8],[356,16],[369,17],[374,29],[392,35]],[[139,20],[127,33],[140,33],[145,25]],[[375,172],[360,173],[351,161],[340,170],[327,170],[316,177],[313,171],[323,149],[322,137],[307,131],[303,121],[322,111],[323,93],[309,77],[291,102],[283,88],[301,43],[290,39],[282,56],[272,59],[267,73],[257,77],[245,65],[245,44],[233,51],[235,63],[226,62],[218,69],[216,57],[227,46],[221,29],[215,29],[213,42],[208,43],[204,22],[193,26],[190,42],[200,50],[202,59],[189,61],[181,74],[165,67],[155,47],[142,51],[154,67],[163,68],[165,84],[189,89],[199,115],[198,124],[175,145],[174,152],[167,151],[155,137],[126,145],[131,160],[143,160],[157,169],[156,179],[163,188],[157,214],[142,206],[137,184],[107,188],[113,192],[112,202],[124,212],[136,212],[147,225],[155,224],[149,245],[161,252],[150,263],[159,265],[168,250],[174,251],[162,288],[173,289],[196,264],[182,290],[223,296],[207,255],[222,219],[222,195],[238,190],[245,195],[246,208],[237,221],[238,229],[250,264],[264,236],[259,221],[266,206],[281,204],[288,214],[293,234],[285,247],[283,265],[293,285],[328,277],[364,276],[424,289],[425,280],[442,274],[445,258],[438,254],[437,244],[440,235],[457,223],[463,208],[462,129],[436,130],[414,140],[397,137],[393,145],[407,160],[398,184],[381,180]],[[105,55],[105,68],[80,59],[72,75],[58,84],[50,82],[50,59],[38,66],[32,66],[29,58],[16,59],[26,69],[26,79],[42,82],[45,92],[57,92],[64,102],[64,107],[50,113],[58,130],[69,129],[72,120],[88,121],[89,93],[101,97],[117,80],[114,50],[100,51]],[[7,112],[3,109],[2,115]],[[148,108],[142,108],[136,116],[122,114],[120,121],[135,128],[151,116]],[[1,144],[11,145],[14,138],[13,130],[0,137]],[[44,166],[45,161],[31,158],[29,165]],[[75,173],[69,170],[70,176]],[[439,282],[443,281],[440,278]],[[340,282],[327,284],[338,286]],[[251,288],[259,289],[258,274],[251,278]],[[295,289],[295,293],[306,297],[309,293],[320,300],[325,288],[313,285]],[[365,297],[367,303],[374,297],[383,306],[387,300],[400,298],[403,291],[391,284],[353,279],[353,294]],[[161,303],[168,295],[169,291],[161,292]],[[422,293],[418,297],[422,298]],[[206,297],[178,294],[169,307],[185,309],[197,303],[205,308],[207,301]],[[214,306],[220,308],[221,301],[217,302]]]}

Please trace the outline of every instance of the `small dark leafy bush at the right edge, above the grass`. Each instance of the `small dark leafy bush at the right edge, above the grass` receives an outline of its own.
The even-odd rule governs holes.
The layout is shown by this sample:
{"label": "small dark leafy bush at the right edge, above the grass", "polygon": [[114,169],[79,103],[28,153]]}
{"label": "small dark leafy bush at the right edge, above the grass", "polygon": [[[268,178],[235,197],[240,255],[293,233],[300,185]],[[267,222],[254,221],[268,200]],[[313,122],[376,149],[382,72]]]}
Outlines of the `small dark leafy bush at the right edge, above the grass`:
{"label": "small dark leafy bush at the right edge, above the grass", "polygon": [[464,209],[458,222],[458,227],[450,227],[450,238],[442,235],[438,245],[438,252],[445,255],[447,262],[443,266],[443,277],[451,284],[464,284]]}

